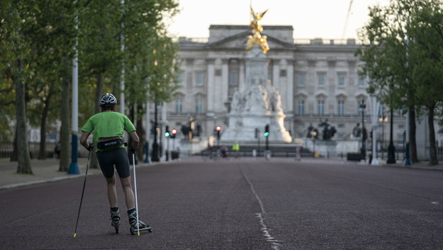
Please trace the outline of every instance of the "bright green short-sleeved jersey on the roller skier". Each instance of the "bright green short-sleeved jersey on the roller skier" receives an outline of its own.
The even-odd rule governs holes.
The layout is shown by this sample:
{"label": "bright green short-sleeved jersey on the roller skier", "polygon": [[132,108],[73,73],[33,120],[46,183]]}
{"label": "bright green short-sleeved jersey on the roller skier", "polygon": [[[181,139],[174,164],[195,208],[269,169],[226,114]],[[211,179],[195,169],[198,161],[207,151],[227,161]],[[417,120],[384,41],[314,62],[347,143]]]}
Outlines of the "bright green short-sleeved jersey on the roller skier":
{"label": "bright green short-sleeved jersey on the roller skier", "polygon": [[[123,131],[130,133],[135,131],[135,127],[126,115],[113,111],[92,115],[82,127],[82,132],[94,132],[94,147],[97,146],[101,137],[118,136],[123,139]],[[96,147],[96,152],[98,151]]]}

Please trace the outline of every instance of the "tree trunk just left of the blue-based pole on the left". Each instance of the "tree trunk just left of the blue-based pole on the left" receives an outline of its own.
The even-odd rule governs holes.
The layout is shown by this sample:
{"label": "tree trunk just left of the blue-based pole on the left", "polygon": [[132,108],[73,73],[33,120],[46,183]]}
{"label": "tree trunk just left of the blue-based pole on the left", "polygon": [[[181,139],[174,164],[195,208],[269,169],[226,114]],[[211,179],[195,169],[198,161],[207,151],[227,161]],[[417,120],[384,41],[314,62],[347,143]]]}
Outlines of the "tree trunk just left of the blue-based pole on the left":
{"label": "tree trunk just left of the blue-based pole on the left", "polygon": [[64,55],[62,59],[63,63],[63,78],[62,78],[62,98],[61,98],[61,110],[60,110],[60,120],[62,121],[62,126],[60,127],[60,162],[59,169],[60,172],[67,172],[69,169],[69,63],[67,55]]}

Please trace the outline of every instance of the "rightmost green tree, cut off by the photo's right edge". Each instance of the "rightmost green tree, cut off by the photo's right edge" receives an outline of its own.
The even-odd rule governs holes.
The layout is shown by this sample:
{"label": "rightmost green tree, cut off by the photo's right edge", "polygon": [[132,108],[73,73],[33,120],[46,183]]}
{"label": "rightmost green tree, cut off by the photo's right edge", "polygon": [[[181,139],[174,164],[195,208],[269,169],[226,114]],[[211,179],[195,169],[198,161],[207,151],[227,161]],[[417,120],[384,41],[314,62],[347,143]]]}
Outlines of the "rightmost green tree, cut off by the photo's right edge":
{"label": "rightmost green tree, cut off by the photo's right edge", "polygon": [[443,103],[443,1],[418,1],[412,9],[410,64],[415,94],[425,106],[430,133],[430,165],[438,164],[434,129],[435,110]]}

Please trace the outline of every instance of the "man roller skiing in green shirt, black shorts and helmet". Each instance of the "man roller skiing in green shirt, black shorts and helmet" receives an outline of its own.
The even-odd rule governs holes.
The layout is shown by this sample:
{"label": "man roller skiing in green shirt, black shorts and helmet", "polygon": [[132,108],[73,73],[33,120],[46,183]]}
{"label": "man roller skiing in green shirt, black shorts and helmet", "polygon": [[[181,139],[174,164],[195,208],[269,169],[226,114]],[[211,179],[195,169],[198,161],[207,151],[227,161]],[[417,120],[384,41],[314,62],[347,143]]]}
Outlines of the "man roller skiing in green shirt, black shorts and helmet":
{"label": "man roller skiing in green shirt, black shorts and helmet", "polygon": [[[116,175],[114,174],[114,165],[118,176],[120,177],[123,193],[125,193],[125,203],[128,208],[128,217],[130,226],[134,229],[149,227],[141,220],[137,220],[137,211],[135,210],[135,198],[130,179],[130,167],[128,154],[123,144],[123,132],[126,131],[132,139],[130,145],[131,151],[137,152],[140,139],[133,123],[126,115],[115,112],[117,99],[111,93],[105,93],[99,98],[101,113],[92,115],[82,127],[82,136],[80,144],[88,151],[95,147],[97,159],[103,176],[106,178],[108,186],[108,201],[111,206],[111,225],[116,228],[120,225],[120,211],[118,210],[118,197],[116,191]],[[94,132],[94,147],[86,140]],[[138,225],[137,225],[138,222]]]}

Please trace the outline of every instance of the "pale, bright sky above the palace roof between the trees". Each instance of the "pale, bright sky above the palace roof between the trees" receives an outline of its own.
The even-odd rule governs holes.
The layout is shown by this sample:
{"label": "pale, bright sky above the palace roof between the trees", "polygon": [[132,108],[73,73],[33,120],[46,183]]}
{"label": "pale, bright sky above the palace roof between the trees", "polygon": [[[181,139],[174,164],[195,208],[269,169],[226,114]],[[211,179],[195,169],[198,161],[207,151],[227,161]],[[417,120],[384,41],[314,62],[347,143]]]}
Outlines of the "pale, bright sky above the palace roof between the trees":
{"label": "pale, bright sky above the palace roof between the trees", "polygon": [[[293,38],[358,38],[357,29],[369,20],[368,7],[388,0],[178,0],[180,13],[170,20],[169,33],[208,38],[209,26],[249,25],[249,6],[265,13],[262,25],[292,25]],[[168,22],[169,23],[169,22]],[[345,28],[345,23],[347,23]],[[266,28],[263,33],[266,33]]]}

